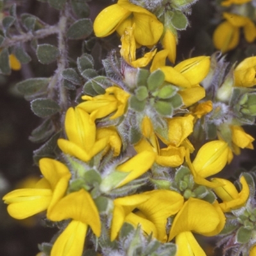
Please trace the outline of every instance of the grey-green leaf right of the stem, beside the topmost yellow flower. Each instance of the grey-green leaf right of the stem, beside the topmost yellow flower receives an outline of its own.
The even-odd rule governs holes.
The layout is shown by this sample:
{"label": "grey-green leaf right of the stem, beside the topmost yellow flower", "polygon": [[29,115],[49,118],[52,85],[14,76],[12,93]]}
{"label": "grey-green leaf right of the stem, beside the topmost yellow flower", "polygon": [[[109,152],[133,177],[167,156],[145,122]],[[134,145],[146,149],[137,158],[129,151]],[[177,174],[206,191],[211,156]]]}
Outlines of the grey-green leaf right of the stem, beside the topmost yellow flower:
{"label": "grey-green leaf right of the stem, beside the topmost yellow flower", "polygon": [[74,22],[67,31],[69,39],[81,39],[92,33],[92,20],[81,19]]}

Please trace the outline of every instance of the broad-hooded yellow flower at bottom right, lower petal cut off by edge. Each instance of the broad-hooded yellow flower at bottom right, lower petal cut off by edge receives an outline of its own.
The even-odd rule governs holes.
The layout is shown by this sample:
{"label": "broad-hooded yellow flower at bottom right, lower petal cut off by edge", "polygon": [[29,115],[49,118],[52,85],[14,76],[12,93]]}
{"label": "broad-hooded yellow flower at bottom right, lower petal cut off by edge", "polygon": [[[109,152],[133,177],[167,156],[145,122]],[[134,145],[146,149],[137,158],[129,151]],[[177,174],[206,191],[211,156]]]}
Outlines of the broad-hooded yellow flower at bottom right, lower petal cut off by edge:
{"label": "broad-hooded yellow flower at bottom right, lower petal cut off by edge", "polygon": [[197,198],[189,198],[173,220],[168,241],[175,237],[177,256],[206,256],[191,232],[215,236],[224,225],[225,215],[217,202],[212,205]]}

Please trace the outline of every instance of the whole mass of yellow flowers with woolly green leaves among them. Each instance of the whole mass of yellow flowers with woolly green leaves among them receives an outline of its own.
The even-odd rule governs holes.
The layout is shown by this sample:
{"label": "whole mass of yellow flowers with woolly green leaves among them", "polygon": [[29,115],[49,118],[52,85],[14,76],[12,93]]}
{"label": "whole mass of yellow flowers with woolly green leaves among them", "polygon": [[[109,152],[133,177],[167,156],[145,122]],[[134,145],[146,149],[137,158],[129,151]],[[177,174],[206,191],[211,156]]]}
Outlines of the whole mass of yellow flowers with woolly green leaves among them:
{"label": "whole mass of yellow flowers with woolly green leaves among them", "polygon": [[[233,153],[253,149],[242,126],[255,122],[256,59],[229,67],[215,53],[176,64],[177,31],[195,1],[150,2],[118,0],[99,13],[95,35],[116,31],[120,55],[67,109],[58,161],[40,159],[35,188],[3,197],[13,218],[46,211],[61,229],[41,255],[206,255],[193,233],[255,255],[253,172],[237,187],[216,175]],[[221,52],[236,47],[240,28],[254,40],[248,17],[223,17]]]}

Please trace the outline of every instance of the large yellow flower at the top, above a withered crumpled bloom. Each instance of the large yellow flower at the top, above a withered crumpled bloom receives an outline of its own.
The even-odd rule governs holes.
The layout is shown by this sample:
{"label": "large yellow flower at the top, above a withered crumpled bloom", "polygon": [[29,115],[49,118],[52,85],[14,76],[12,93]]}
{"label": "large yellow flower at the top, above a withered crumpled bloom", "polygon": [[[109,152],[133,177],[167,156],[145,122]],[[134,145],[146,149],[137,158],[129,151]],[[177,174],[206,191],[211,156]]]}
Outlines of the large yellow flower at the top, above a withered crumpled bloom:
{"label": "large yellow flower at the top, above a withered crumpled bloom", "polygon": [[129,3],[128,0],[119,0],[108,6],[96,17],[93,29],[98,37],[108,36],[114,31],[121,36],[125,28],[135,24],[134,37],[140,45],[154,45],[163,33],[163,24],[157,17],[146,9]]}

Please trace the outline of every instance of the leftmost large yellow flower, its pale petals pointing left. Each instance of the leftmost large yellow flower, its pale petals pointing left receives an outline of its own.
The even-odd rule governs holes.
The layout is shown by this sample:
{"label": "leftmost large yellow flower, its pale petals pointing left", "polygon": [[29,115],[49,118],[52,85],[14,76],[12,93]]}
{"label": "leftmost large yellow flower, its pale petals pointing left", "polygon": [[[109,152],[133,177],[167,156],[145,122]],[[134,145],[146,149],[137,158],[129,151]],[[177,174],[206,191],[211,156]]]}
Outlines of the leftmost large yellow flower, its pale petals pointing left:
{"label": "leftmost large yellow flower, its pale petals pointing left", "polygon": [[49,158],[39,161],[44,178],[35,188],[16,189],[3,197],[7,211],[15,219],[22,220],[38,212],[50,211],[65,195],[71,174],[64,164]]}

